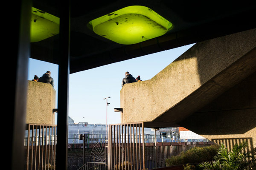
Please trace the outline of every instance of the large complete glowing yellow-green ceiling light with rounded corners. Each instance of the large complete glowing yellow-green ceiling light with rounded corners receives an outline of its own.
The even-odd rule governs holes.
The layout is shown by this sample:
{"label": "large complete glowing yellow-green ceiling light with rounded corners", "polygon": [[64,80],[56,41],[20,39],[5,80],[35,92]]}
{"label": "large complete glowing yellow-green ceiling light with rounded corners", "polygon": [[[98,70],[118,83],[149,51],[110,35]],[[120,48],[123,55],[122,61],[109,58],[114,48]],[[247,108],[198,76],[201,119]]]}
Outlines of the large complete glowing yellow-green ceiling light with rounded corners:
{"label": "large complete glowing yellow-green ceiling light with rounded corners", "polygon": [[172,23],[145,6],[128,6],[90,24],[96,34],[126,45],[159,37],[172,28]]}

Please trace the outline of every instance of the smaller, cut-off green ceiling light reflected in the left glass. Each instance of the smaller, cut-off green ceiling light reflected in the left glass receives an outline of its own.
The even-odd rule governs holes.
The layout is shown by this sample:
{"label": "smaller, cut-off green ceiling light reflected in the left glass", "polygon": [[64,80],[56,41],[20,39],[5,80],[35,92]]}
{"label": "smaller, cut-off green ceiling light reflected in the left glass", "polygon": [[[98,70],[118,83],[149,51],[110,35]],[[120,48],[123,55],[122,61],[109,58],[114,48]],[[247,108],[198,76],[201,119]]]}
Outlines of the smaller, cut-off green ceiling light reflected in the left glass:
{"label": "smaller, cut-off green ceiling light reflected in the left glass", "polygon": [[38,42],[59,33],[60,19],[32,7],[30,42]]}

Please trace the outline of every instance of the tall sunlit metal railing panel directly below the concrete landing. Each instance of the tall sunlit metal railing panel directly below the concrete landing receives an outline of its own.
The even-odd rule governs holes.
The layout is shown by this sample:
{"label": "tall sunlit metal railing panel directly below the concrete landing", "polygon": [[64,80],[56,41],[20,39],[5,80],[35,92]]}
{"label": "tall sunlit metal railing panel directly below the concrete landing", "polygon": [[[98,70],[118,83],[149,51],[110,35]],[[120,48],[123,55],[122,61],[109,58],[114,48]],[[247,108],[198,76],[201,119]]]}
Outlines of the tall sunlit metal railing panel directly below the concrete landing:
{"label": "tall sunlit metal railing panel directly below the concrete landing", "polygon": [[109,126],[108,170],[142,170],[145,167],[143,134],[143,122]]}

